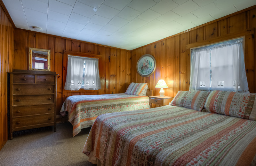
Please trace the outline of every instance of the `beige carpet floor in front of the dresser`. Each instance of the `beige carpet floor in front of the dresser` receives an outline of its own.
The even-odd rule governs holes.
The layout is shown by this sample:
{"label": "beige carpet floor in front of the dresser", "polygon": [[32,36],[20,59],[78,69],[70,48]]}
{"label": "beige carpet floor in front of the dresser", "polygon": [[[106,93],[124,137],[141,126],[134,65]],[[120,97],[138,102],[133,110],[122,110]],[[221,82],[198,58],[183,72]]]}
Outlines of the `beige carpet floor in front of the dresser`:
{"label": "beige carpet floor in front of the dresser", "polygon": [[0,166],[95,166],[82,153],[90,128],[72,136],[70,123],[13,133],[0,151]]}

